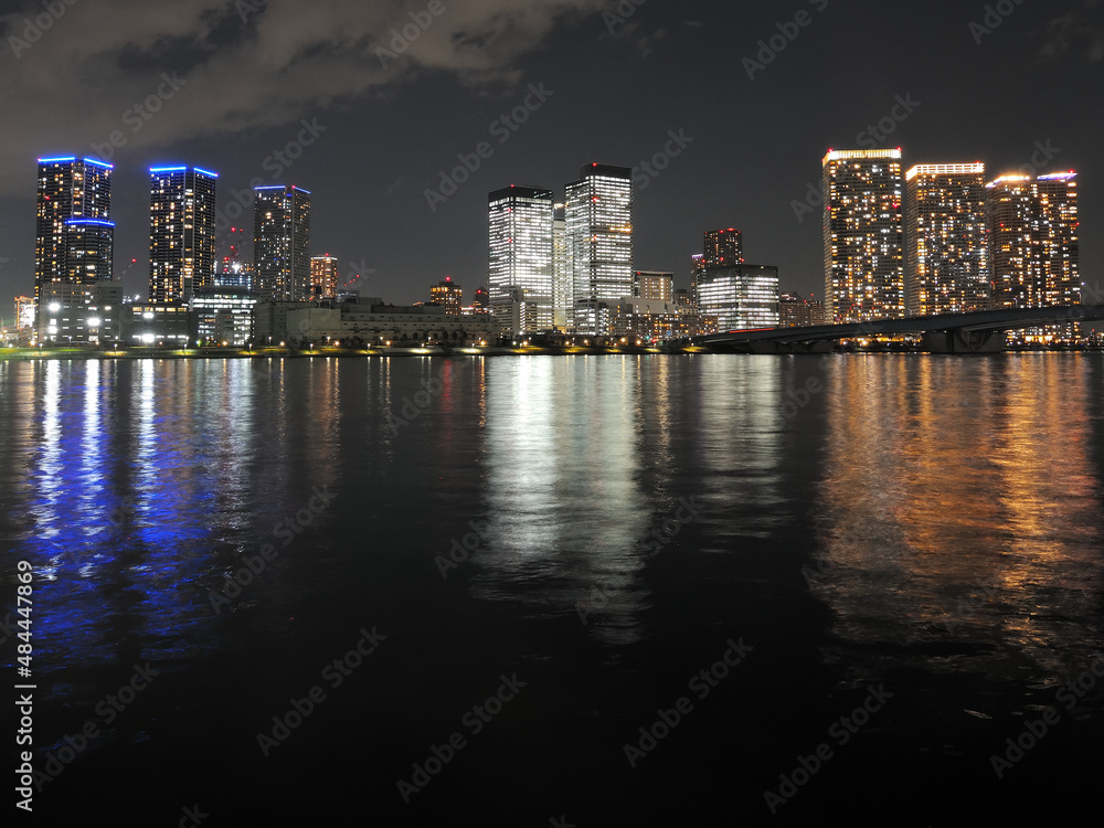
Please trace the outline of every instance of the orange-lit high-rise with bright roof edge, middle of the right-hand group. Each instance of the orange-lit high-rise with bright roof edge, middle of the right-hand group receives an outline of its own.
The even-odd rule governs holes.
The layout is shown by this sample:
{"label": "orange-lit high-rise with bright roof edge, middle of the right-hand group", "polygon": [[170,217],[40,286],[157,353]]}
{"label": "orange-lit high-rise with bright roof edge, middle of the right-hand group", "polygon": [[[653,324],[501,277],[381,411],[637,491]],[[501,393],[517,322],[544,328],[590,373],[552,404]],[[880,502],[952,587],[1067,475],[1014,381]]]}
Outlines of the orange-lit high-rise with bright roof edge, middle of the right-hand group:
{"label": "orange-lit high-rise with bright roof edge, middle of the right-hand group", "polygon": [[909,316],[989,307],[984,163],[925,163],[905,173]]}

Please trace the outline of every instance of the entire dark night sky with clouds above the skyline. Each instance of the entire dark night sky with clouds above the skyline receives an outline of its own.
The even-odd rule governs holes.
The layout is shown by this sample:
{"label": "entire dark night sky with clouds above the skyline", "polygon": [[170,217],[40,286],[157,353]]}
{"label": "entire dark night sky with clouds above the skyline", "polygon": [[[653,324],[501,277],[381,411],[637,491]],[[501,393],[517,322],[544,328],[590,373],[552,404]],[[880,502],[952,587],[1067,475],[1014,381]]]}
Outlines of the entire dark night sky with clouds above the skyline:
{"label": "entire dark night sky with clouds above the skyline", "polygon": [[[640,167],[667,148],[678,155],[662,159],[656,177],[638,170],[635,264],[673,270],[678,286],[689,283],[702,232],[735,226],[749,262],[779,267],[783,290],[819,296],[820,212],[799,221],[794,202],[819,187],[827,149],[872,146],[902,147],[905,169],[981,160],[991,179],[1034,156],[1041,172],[1078,170],[1090,229],[1082,279],[1096,278],[1100,0],[1005,0],[997,6],[1007,18],[990,12],[988,21],[985,3],[951,0],[53,6],[64,12],[51,17],[39,2],[0,7],[6,321],[10,297],[34,288],[36,158],[103,157],[94,145],[113,131],[123,144],[110,150],[116,277],[136,258],[124,284],[142,296],[151,164],[217,171],[223,212],[254,178],[310,190],[311,254],[338,256],[344,280],[362,276],[363,294],[413,302],[446,275],[466,300],[486,284],[488,191],[531,184],[561,198],[584,163]],[[432,21],[424,32],[411,12]],[[807,25],[789,26],[796,38],[783,51],[761,67],[745,62],[757,60],[760,41],[778,35],[777,45],[778,24],[799,12]],[[47,29],[29,30],[36,15]],[[392,30],[404,24],[417,36],[399,53]],[[149,96],[158,112],[144,118],[134,106]],[[502,125],[527,97],[526,121]],[[882,119],[892,123],[888,135]],[[282,170],[274,153],[300,135],[309,146]],[[432,210],[426,190],[484,141],[489,157]],[[234,224],[252,233],[252,213]]]}

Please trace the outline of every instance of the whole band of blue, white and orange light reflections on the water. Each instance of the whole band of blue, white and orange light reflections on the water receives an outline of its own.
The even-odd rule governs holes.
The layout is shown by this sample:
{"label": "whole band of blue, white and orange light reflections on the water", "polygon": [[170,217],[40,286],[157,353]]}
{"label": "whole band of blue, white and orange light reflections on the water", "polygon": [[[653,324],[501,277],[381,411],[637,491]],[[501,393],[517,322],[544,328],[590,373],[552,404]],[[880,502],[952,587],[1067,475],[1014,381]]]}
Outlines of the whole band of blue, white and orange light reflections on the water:
{"label": "whole band of blue, white and orange light reflections on the water", "polygon": [[[403,581],[381,573],[389,556],[405,555],[429,607],[434,555],[486,520],[452,576],[468,599],[540,620],[601,590],[586,635],[616,648],[664,631],[644,544],[694,498],[700,516],[666,553],[680,565],[731,558],[755,590],[785,594],[803,563],[835,564],[813,594],[845,683],[891,661],[1043,682],[1085,664],[1102,641],[1100,359],[816,364],[0,362],[4,566],[25,556],[44,578],[47,673],[183,667],[226,645],[238,616],[212,613],[209,593],[237,555],[328,486],[340,519],[319,518],[241,602],[262,628],[306,594]],[[825,391],[787,421],[785,391],[810,371]],[[394,435],[389,415],[435,381]],[[787,489],[795,478],[814,501]],[[739,574],[751,549],[772,551],[769,574]],[[788,601],[772,608],[802,609]]]}

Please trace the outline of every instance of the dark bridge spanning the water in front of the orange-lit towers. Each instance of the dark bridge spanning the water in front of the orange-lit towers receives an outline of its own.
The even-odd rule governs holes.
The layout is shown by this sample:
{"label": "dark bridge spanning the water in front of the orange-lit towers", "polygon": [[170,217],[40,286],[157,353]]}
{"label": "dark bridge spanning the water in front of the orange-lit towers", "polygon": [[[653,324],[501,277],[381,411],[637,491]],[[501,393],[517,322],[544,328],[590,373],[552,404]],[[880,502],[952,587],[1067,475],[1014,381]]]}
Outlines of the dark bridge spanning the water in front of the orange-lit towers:
{"label": "dark bridge spanning the water in front of the orange-lit towers", "polygon": [[813,353],[834,340],[920,333],[931,353],[992,353],[1005,349],[1005,331],[1104,319],[1104,305],[1002,308],[970,314],[915,316],[808,328],[760,328],[694,337],[692,344],[739,353]]}

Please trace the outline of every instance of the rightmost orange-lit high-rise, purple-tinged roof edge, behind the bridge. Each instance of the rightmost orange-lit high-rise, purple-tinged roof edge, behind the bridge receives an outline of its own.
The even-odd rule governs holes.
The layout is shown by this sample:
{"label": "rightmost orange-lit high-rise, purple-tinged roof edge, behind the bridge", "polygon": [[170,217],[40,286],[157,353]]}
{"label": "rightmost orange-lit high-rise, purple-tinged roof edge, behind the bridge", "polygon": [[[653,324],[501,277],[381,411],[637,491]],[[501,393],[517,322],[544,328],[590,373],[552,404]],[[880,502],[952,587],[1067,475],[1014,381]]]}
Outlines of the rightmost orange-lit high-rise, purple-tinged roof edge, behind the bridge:
{"label": "rightmost orange-lit high-rise, purple-tinged roof edge, behind the bridge", "polygon": [[[1076,173],[1004,176],[987,190],[994,307],[1080,304]],[[1015,331],[1011,338],[1062,336],[1059,329],[1047,328]]]}

